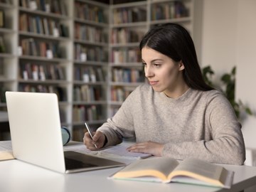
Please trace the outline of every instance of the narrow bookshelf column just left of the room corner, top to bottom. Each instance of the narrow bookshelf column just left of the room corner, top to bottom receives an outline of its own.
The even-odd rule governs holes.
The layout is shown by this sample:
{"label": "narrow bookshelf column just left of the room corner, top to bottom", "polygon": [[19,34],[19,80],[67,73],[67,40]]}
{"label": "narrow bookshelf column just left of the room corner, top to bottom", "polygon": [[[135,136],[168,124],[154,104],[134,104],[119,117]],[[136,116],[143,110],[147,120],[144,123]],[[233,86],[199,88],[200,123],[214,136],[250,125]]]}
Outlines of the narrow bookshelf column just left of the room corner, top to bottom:
{"label": "narrow bookshelf column just left of the room corner, top to bottom", "polygon": [[73,138],[82,140],[84,122],[97,129],[106,120],[109,6],[75,0]]}

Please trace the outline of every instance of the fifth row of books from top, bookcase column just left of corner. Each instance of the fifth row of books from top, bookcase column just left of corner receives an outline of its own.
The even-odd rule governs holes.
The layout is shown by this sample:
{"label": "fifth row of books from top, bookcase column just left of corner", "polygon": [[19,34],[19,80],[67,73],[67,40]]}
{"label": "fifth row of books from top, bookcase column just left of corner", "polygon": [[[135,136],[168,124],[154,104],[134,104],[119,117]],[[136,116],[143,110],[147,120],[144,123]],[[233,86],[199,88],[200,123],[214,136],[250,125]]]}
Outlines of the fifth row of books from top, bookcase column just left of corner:
{"label": "fifth row of books from top, bookcase column just left of corner", "polygon": [[73,90],[73,100],[75,102],[92,102],[102,100],[104,95],[99,86],[81,85],[75,86]]}

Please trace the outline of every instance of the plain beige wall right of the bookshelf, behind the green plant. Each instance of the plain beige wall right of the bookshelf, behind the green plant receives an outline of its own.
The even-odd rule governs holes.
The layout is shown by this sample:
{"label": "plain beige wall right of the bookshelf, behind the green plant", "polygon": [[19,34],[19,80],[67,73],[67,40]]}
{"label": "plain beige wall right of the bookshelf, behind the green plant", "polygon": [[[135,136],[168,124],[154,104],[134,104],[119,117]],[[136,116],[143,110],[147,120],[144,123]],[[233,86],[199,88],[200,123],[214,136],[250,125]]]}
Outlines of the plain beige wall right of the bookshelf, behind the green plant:
{"label": "plain beige wall right of the bookshelf, behind the green plant", "polygon": [[[255,0],[204,0],[199,60],[211,65],[217,77],[236,65],[235,96],[256,114],[255,10]],[[242,132],[245,145],[256,149],[256,117],[242,121]]]}

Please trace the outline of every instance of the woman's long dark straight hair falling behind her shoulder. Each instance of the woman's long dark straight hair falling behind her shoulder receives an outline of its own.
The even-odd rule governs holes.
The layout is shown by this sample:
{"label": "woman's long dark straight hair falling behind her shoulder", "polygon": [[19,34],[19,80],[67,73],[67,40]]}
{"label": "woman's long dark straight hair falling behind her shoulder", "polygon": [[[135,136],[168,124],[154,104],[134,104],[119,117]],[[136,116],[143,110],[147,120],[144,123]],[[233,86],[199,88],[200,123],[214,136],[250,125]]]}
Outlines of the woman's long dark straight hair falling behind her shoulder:
{"label": "woman's long dark straight hair falling behind her shoulder", "polygon": [[139,44],[141,50],[145,46],[176,62],[182,61],[185,66],[183,78],[188,87],[203,91],[213,90],[213,87],[207,85],[203,80],[196,48],[190,34],[183,26],[176,23],[165,23],[151,28]]}

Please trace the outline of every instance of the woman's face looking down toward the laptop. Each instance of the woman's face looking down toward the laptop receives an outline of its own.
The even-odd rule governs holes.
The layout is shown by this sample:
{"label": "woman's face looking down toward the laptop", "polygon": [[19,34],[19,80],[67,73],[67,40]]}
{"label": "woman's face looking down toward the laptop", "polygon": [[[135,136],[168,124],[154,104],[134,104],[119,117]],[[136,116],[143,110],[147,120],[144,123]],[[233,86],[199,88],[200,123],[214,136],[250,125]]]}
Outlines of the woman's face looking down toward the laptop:
{"label": "woman's face looking down toward the laptop", "polygon": [[182,75],[184,65],[181,61],[175,62],[154,49],[144,47],[142,48],[142,63],[145,76],[156,92],[164,92],[170,96],[186,85]]}

